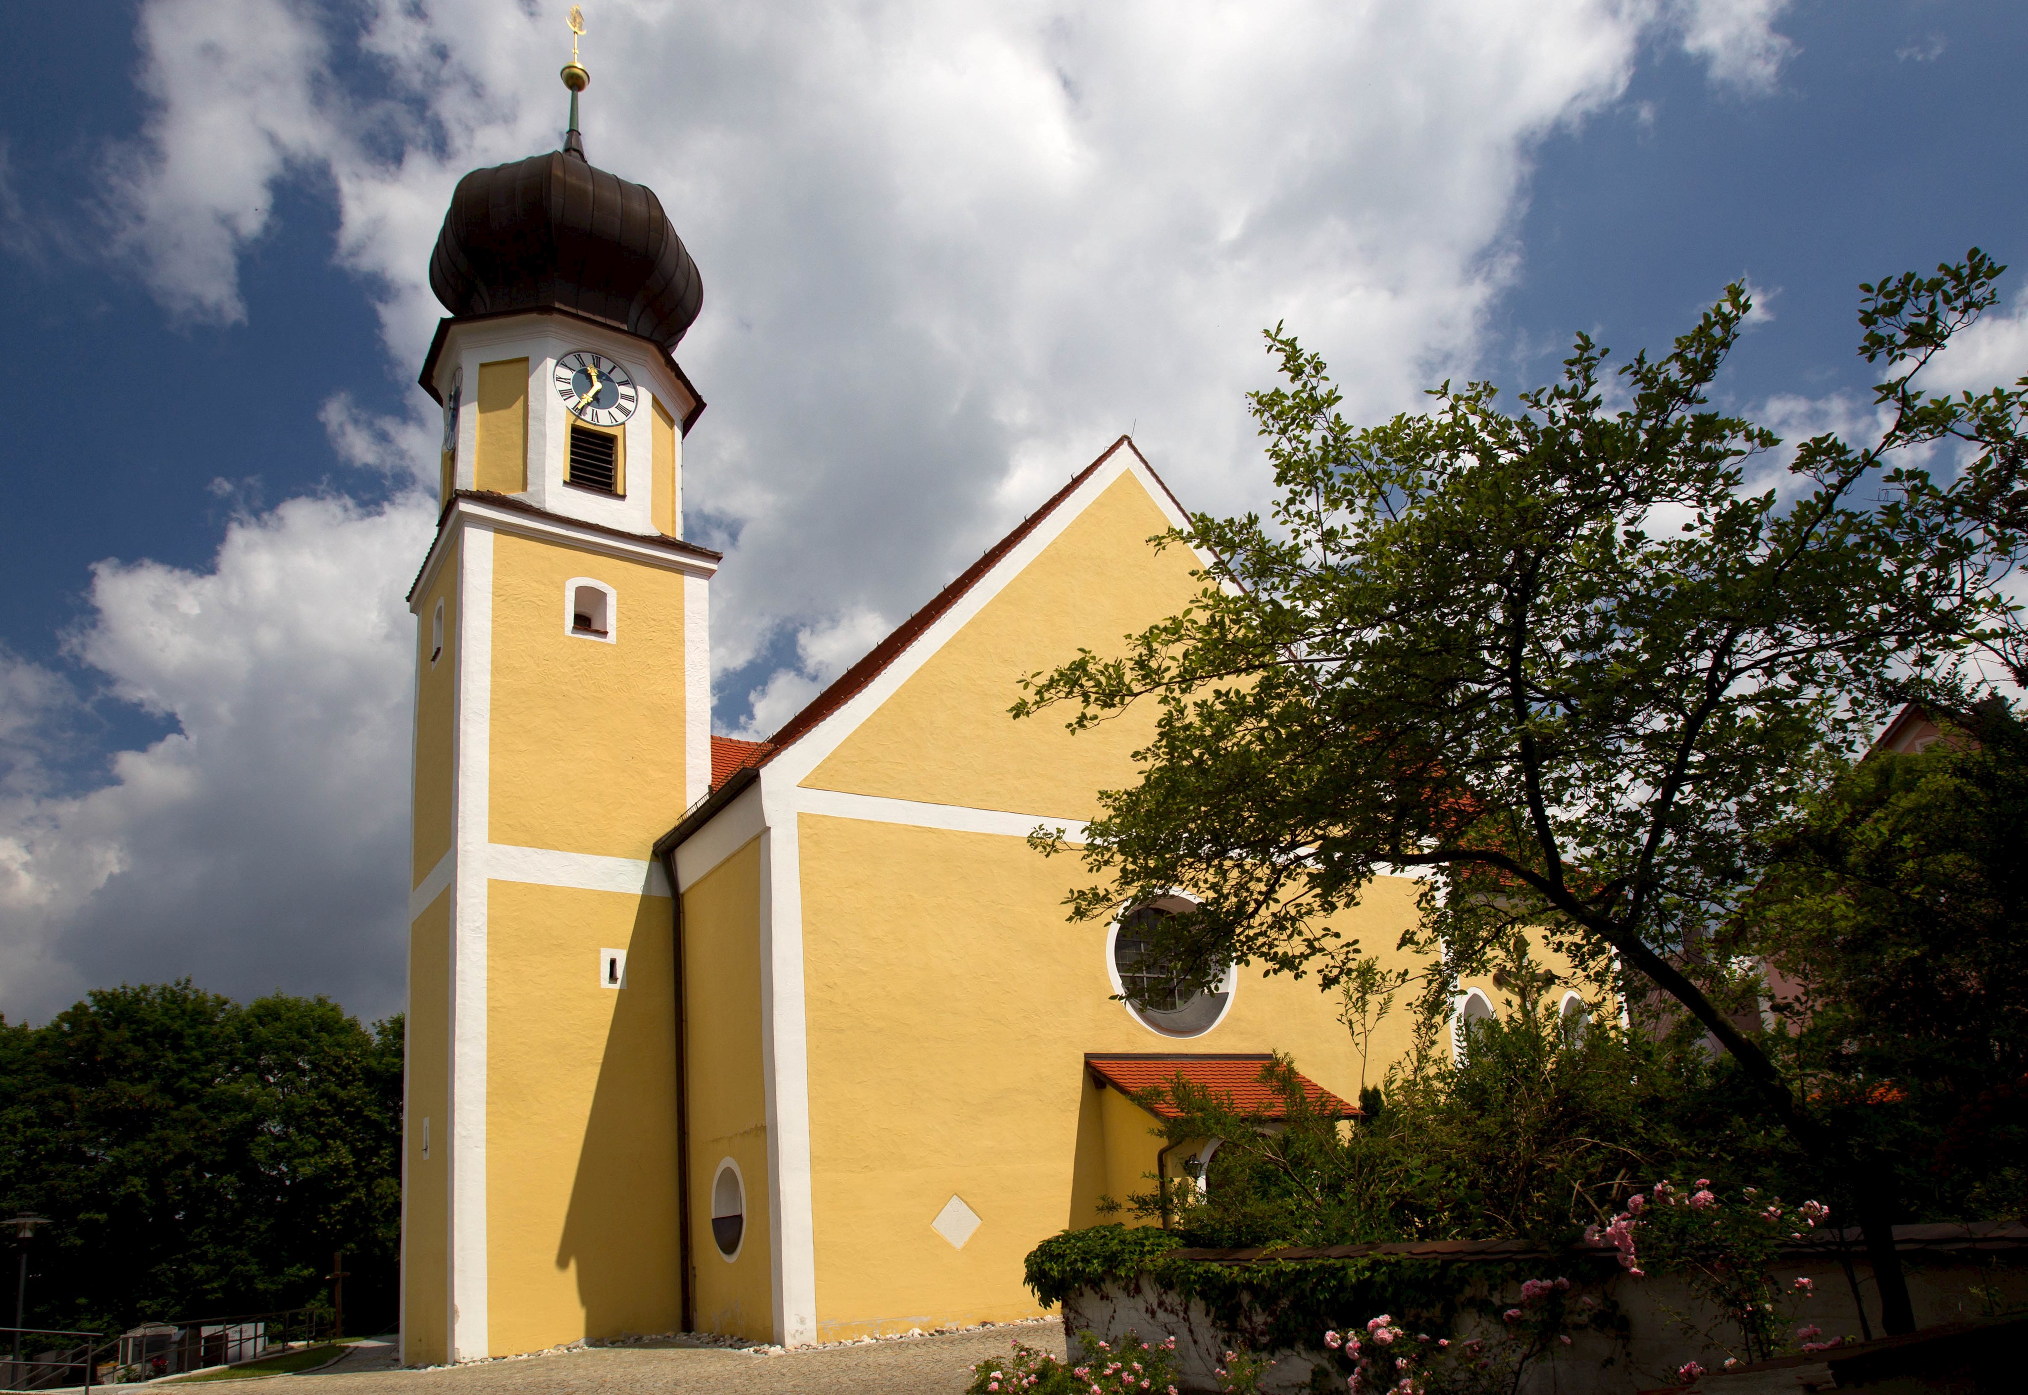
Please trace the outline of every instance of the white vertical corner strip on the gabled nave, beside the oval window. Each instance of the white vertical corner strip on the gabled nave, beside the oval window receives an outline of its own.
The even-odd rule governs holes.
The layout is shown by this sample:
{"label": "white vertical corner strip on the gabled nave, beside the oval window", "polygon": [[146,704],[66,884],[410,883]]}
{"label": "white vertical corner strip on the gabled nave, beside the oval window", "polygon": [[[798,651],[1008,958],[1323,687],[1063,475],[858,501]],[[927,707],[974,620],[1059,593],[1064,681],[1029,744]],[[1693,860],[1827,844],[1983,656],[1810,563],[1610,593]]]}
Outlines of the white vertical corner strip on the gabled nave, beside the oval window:
{"label": "white vertical corner strip on the gabled nave, beside the oval window", "polygon": [[809,1024],[803,1000],[803,886],[795,791],[760,781],[760,1073],[767,1081],[769,1263],[775,1340],[817,1340],[817,1247],[809,1194]]}

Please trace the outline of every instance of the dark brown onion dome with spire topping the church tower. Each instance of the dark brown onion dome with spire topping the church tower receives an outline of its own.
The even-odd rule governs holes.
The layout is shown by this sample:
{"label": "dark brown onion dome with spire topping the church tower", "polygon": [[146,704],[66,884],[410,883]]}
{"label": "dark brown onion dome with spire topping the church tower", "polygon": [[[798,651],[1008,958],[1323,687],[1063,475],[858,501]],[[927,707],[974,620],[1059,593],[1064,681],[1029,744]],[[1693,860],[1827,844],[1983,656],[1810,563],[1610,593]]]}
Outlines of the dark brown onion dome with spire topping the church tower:
{"label": "dark brown onion dome with spire topping the church tower", "polygon": [[430,253],[430,290],[456,316],[572,310],[673,349],[704,308],[704,280],[655,191],[586,162],[586,81],[572,59],[562,150],[458,180]]}

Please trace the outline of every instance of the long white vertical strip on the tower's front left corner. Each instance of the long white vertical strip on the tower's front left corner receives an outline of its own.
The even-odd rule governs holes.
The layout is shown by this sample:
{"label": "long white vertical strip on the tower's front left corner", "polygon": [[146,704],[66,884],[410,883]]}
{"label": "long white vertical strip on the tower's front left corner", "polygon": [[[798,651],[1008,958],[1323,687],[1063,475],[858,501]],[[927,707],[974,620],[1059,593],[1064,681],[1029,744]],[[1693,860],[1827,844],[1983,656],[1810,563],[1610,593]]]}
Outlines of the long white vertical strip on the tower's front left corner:
{"label": "long white vertical strip on the tower's front left corner", "polygon": [[450,1354],[487,1334],[487,819],[493,762],[493,533],[460,547],[456,904],[450,949]]}

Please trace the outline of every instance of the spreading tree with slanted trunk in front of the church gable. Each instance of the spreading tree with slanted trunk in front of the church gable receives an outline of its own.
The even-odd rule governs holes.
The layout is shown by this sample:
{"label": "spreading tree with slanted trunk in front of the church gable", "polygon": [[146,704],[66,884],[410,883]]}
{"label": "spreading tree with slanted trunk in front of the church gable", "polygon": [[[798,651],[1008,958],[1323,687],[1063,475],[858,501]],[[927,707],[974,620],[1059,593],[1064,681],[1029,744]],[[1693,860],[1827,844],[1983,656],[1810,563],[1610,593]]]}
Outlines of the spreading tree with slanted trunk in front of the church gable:
{"label": "spreading tree with slanted trunk in front of the church gable", "polygon": [[[1075,916],[1190,886],[1154,953],[1180,983],[1231,961],[1338,981],[1332,914],[1383,868],[1430,878],[1411,947],[1446,1010],[1517,929],[1580,971],[1655,985],[1738,1062],[1758,1109],[1862,1188],[1890,1330],[1912,1324],[1894,1196],[1833,1121],[1683,967],[1752,886],[1762,833],[1912,685],[2014,633],[2028,389],[1935,397],[1914,379],[1994,304],[1983,253],[1866,286],[1860,353],[1888,377],[1876,444],[1781,442],[1708,408],[1750,302],[1606,381],[1580,335],[1551,387],[1491,383],[1355,428],[1324,361],[1268,335],[1284,387],[1251,395],[1282,489],[1272,517],[1197,515],[1207,562],[1178,616],[1028,679],[1016,716],[1073,730],[1158,706],[1138,785],[1103,795]],[[1608,408],[1608,387],[1624,406]],[[1969,456],[1949,485],[1923,462]],[[1036,833],[1044,852],[1065,843]]]}

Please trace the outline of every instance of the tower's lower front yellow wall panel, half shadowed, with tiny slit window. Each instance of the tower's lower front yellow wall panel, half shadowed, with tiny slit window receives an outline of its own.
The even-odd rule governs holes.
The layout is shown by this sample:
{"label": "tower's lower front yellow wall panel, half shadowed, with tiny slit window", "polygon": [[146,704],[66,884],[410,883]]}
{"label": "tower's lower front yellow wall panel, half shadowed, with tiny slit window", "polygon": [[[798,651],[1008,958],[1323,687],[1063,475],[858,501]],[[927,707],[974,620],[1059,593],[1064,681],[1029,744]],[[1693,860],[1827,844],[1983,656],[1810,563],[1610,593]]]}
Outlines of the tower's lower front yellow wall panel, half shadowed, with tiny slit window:
{"label": "tower's lower front yellow wall panel, half shadowed, with tiny slit window", "polygon": [[663,896],[487,884],[495,1352],[679,1326],[669,945]]}

